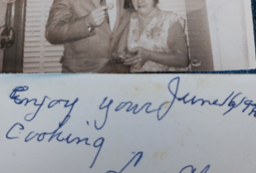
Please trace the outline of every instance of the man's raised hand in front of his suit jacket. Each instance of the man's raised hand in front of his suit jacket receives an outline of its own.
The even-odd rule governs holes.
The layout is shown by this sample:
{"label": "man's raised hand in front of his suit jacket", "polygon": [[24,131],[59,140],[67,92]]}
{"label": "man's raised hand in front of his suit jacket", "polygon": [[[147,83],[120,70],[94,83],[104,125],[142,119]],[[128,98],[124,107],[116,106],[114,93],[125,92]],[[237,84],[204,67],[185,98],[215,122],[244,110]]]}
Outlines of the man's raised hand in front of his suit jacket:
{"label": "man's raised hand in front of his suit jacket", "polygon": [[97,9],[90,12],[86,17],[86,25],[88,27],[97,27],[101,26],[105,21],[107,6],[98,7]]}

